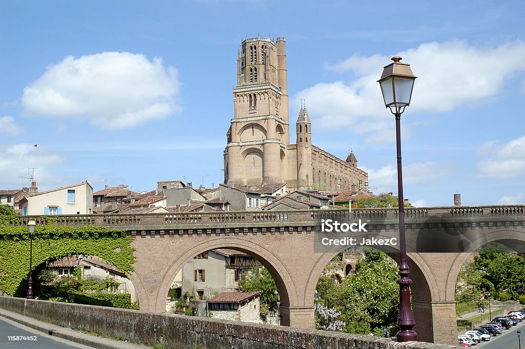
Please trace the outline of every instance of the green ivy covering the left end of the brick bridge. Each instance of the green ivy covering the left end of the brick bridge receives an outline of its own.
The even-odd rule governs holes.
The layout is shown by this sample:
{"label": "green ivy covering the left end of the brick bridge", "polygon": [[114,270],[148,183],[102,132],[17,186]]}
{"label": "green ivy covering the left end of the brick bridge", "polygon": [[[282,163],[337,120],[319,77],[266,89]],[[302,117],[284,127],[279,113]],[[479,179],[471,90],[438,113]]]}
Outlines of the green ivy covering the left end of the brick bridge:
{"label": "green ivy covering the left end of the brick bridge", "polygon": [[[43,218],[46,224],[37,225],[33,233],[33,269],[82,253],[113,263],[125,274],[133,271],[133,238],[125,230],[54,225],[56,218]],[[29,241],[29,232],[21,225],[20,217],[0,216],[0,293],[15,295],[20,283],[28,277]]]}

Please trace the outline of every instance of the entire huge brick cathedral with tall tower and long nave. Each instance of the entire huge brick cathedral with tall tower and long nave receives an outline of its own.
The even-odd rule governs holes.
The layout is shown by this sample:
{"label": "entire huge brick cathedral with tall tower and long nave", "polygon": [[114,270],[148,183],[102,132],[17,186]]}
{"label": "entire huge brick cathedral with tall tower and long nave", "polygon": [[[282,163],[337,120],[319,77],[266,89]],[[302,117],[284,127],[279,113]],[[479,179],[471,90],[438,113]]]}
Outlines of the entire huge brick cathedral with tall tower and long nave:
{"label": "entire huge brick cathedral with tall tower and long nave", "polygon": [[234,118],[226,133],[224,183],[286,183],[288,191],[365,189],[368,174],[355,155],[346,160],[312,145],[312,124],[301,106],[297,144],[290,144],[285,39],[247,38],[237,52]]}

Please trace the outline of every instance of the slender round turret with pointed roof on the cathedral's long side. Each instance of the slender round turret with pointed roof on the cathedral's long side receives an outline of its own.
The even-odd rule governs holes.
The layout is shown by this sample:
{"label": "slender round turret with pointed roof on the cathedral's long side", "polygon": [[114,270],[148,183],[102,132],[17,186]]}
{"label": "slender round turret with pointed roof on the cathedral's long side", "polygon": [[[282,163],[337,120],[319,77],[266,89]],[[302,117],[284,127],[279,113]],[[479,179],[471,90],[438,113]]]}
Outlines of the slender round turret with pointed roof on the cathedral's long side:
{"label": "slender round turret with pointed roof on the cathedral's long side", "polygon": [[306,107],[301,107],[297,118],[297,188],[304,190],[313,183],[310,178],[312,167],[312,132]]}

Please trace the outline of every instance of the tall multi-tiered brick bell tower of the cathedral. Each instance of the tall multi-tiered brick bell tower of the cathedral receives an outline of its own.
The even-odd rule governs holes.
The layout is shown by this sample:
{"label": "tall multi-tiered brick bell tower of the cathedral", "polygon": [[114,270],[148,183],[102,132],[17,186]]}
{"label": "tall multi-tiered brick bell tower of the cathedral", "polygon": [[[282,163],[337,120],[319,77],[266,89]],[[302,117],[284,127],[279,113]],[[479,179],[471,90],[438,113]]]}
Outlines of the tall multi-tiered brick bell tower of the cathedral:
{"label": "tall multi-tiered brick bell tower of the cathedral", "polygon": [[247,38],[237,53],[234,118],[224,150],[226,184],[259,185],[288,177],[290,143],[285,39]]}

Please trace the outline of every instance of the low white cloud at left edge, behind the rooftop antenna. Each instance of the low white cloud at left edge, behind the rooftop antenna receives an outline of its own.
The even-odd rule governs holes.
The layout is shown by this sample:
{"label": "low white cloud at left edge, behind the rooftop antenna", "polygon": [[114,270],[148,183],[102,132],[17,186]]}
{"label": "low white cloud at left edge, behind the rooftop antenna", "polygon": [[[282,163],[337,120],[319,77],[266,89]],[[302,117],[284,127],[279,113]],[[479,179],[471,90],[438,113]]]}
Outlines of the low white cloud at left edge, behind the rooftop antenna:
{"label": "low white cloud at left edge, behind the rooftop antenna", "polygon": [[[28,167],[37,167],[35,180],[39,190],[54,189],[60,185],[60,178],[51,168],[62,163],[62,157],[52,149],[34,147],[33,144],[0,144],[0,188],[15,189],[29,185],[31,173]],[[71,183],[74,184],[74,183]]]}

